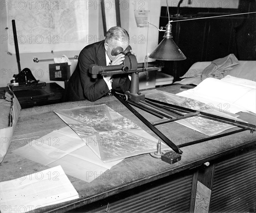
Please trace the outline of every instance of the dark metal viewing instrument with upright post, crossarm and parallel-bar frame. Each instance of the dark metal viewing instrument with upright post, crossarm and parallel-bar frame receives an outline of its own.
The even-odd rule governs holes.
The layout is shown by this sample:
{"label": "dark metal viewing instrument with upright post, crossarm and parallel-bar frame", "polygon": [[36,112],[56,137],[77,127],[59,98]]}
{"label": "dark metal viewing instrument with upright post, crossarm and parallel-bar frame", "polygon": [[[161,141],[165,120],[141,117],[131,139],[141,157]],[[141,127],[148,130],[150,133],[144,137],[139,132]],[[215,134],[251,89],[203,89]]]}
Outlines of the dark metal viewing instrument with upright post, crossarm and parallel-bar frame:
{"label": "dark metal viewing instrument with upright post, crossarm and parallel-bar frame", "polygon": [[[144,63],[137,63],[134,55],[125,55],[125,61],[121,65],[114,66],[97,66],[92,64],[89,68],[89,73],[92,78],[97,78],[97,75],[114,75],[114,74],[127,74],[131,73],[131,88],[130,91],[126,91],[124,94],[112,91],[113,95],[127,107],[134,115],[137,116],[145,125],[147,125],[150,130],[152,130],[164,143],[166,143],[172,150],[178,154],[182,154],[180,147],[189,146],[192,144],[201,143],[203,141],[212,140],[215,138],[220,138],[226,135],[231,135],[237,132],[242,132],[245,130],[250,130],[251,132],[256,131],[256,125],[248,124],[242,121],[233,120],[230,118],[224,118],[218,115],[212,115],[206,112],[201,112],[193,109],[188,109],[186,107],[180,107],[173,104],[168,104],[161,101],[156,101],[153,99],[145,98],[145,95],[139,92],[139,79],[138,73],[150,70],[159,70],[163,67],[162,64],[158,63],[148,63],[147,69],[144,69]],[[137,110],[135,110],[131,105],[143,109],[152,115],[161,118],[159,121],[153,123],[149,122],[143,117]],[[227,133],[215,135],[212,137],[204,138],[197,141],[192,141],[186,144],[176,145],[169,138],[167,138],[160,130],[155,126],[158,124],[164,124],[167,122],[177,121],[184,118],[189,118],[192,116],[202,116],[204,118],[212,119],[215,121],[220,121],[226,124],[231,124],[237,127],[241,127],[240,130],[234,130]]]}

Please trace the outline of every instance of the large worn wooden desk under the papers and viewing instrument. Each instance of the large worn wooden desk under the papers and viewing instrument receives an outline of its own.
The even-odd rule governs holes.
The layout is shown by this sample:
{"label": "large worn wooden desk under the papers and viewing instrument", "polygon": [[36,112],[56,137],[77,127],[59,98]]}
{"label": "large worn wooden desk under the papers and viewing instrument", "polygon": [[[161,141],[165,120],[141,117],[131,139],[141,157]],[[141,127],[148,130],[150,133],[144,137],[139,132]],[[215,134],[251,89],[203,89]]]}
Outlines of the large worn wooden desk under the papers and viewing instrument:
{"label": "large worn wooden desk under the papers and viewing instrument", "polygon": [[[177,93],[180,92],[180,85],[160,87],[158,89]],[[32,171],[37,172],[47,169],[47,166],[13,154],[12,150],[29,143],[35,137],[66,127],[67,125],[52,110],[70,109],[81,107],[85,104],[108,104],[112,109],[152,134],[148,127],[125,109],[113,96],[101,98],[96,102],[77,101],[42,106],[40,110],[35,107],[22,109],[12,138],[13,141],[0,167],[1,171],[7,171],[9,176],[2,176],[1,172],[1,181],[17,178],[19,174],[22,174],[21,176],[29,175]],[[147,116],[150,120],[151,117]],[[241,114],[241,118],[256,124],[256,119],[252,115]],[[175,122],[160,125],[158,129],[163,131],[175,144],[205,137],[205,135]],[[120,209],[122,209],[122,212],[134,212],[135,210],[140,212],[147,207],[149,207],[149,212],[159,212],[161,209],[166,212],[175,210],[178,210],[178,212],[194,211],[197,181],[201,181],[212,190],[212,199],[218,200],[219,197],[223,199],[221,196],[228,194],[221,193],[221,196],[219,196],[220,190],[230,193],[229,188],[223,189],[223,187],[219,186],[219,176],[217,179],[215,177],[216,172],[224,175],[224,172],[221,172],[223,166],[226,166],[227,169],[237,167],[233,174],[238,178],[239,183],[238,188],[235,188],[236,190],[233,193],[239,195],[240,201],[244,202],[243,198],[247,199],[247,196],[252,197],[256,194],[255,178],[251,178],[251,176],[255,177],[256,174],[255,144],[255,132],[252,134],[250,131],[244,131],[224,138],[183,147],[181,148],[183,151],[181,160],[172,165],[160,159],[152,158],[149,154],[126,158],[112,167],[111,170],[108,170],[106,175],[102,174],[102,176],[90,183],[68,176],[79,193],[79,199],[44,207],[42,210],[37,209],[35,212],[62,213],[91,203],[81,212],[90,208],[91,210],[96,210],[96,205],[104,212],[108,202],[112,202],[110,203],[110,212],[114,210],[117,212]],[[203,169],[201,165],[207,161],[210,162],[210,166]],[[232,186],[237,184],[236,178],[232,179],[233,176],[228,170],[225,175],[223,181],[231,181]],[[230,182],[226,184],[230,184]],[[249,192],[241,192],[239,187],[250,187],[250,194],[248,195]],[[132,193],[135,193],[135,195]],[[231,195],[233,196],[233,194]],[[99,202],[93,203],[95,201]],[[233,201],[240,202],[237,197]],[[218,206],[220,205],[221,202]],[[126,207],[127,209],[125,209]],[[128,207],[131,209],[129,210]],[[154,207],[156,208],[154,209]]]}

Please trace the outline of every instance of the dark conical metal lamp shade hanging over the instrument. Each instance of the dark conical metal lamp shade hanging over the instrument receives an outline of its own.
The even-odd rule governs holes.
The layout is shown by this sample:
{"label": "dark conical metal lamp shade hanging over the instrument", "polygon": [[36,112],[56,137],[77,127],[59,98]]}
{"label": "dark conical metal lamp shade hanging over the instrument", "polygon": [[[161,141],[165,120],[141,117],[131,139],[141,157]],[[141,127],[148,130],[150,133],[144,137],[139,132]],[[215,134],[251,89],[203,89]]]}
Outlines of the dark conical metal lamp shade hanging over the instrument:
{"label": "dark conical metal lamp shade hanging over the instrument", "polygon": [[181,52],[172,38],[163,38],[148,58],[157,60],[185,60],[186,56]]}

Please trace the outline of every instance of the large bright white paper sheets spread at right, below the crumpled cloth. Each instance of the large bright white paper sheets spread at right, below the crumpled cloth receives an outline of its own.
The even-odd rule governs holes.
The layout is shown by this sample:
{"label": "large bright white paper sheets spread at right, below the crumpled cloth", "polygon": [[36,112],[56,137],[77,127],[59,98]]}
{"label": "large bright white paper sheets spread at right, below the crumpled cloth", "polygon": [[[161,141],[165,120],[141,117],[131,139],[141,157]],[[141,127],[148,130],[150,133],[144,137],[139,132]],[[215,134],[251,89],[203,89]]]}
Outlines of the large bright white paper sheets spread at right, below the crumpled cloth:
{"label": "large bright white paper sheets spread at right, below the crumpled cloth", "polygon": [[222,112],[256,113],[256,82],[230,75],[221,80],[206,78],[194,89],[176,95],[201,101]]}

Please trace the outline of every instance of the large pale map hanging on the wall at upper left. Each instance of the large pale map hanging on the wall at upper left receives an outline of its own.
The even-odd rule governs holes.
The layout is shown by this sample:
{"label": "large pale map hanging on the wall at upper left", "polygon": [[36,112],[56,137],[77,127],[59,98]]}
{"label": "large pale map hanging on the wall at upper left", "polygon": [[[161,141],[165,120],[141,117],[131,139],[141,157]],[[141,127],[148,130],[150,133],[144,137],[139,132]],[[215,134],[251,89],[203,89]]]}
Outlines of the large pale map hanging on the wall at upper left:
{"label": "large pale map hanging on the wall at upper left", "polygon": [[[20,53],[81,50],[88,36],[87,1],[5,1],[8,51],[15,53],[15,20]],[[3,8],[4,9],[4,8]]]}

